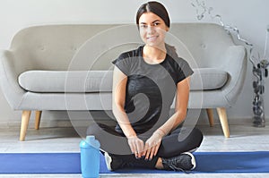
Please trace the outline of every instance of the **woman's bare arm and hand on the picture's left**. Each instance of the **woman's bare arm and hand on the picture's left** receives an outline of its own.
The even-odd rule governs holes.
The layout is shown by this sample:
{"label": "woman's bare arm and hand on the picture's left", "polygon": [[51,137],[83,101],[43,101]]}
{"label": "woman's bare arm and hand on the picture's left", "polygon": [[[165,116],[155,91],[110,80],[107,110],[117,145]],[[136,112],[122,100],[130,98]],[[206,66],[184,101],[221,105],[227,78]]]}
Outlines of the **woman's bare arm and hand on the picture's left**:
{"label": "woman's bare arm and hand on the picture's left", "polygon": [[113,72],[113,89],[112,89],[112,112],[117,119],[117,123],[126,135],[128,144],[135,154],[135,157],[142,157],[143,153],[143,140],[136,136],[130,120],[124,109],[126,101],[126,83],[127,76],[121,72],[117,66]]}

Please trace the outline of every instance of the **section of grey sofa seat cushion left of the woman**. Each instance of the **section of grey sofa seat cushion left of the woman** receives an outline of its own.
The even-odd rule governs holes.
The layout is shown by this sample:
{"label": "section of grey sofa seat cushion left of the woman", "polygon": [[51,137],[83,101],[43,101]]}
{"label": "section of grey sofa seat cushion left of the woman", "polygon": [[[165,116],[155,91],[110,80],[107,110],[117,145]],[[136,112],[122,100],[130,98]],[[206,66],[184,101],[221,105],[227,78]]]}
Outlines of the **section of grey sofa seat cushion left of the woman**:
{"label": "section of grey sofa seat cushion left of the woman", "polygon": [[19,83],[32,92],[111,92],[112,71],[28,71]]}

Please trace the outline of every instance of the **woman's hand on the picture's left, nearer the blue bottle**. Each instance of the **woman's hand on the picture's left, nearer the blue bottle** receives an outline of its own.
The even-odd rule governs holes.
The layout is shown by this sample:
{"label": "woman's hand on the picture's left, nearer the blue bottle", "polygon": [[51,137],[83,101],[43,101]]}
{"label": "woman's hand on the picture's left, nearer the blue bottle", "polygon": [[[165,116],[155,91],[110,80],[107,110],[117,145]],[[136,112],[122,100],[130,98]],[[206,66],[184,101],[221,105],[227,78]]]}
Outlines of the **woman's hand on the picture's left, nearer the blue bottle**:
{"label": "woman's hand on the picture's left, nearer the blue bottle", "polygon": [[137,136],[127,137],[127,139],[134,156],[136,158],[143,157],[143,140],[139,139]]}

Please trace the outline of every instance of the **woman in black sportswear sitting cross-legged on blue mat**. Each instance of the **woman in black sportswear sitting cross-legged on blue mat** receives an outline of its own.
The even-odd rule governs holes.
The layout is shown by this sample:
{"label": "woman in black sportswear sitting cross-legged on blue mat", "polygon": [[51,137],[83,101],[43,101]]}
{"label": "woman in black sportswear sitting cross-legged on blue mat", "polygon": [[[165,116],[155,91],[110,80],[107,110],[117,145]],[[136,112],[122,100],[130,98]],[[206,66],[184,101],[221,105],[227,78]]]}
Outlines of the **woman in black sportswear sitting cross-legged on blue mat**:
{"label": "woman in black sportswear sitting cross-legged on blue mat", "polygon": [[[158,2],[143,4],[136,14],[136,24],[144,45],[121,54],[113,75],[113,114],[117,119],[114,131],[102,129],[126,138],[132,153],[105,153],[108,169],[124,167],[157,168],[189,171],[195,168],[190,153],[203,140],[201,131],[181,128],[187,115],[190,75],[193,73],[175,48],[165,43],[169,31],[169,14]],[[176,96],[175,113],[169,108]],[[89,132],[90,131],[90,132]],[[185,140],[178,134],[187,133]],[[89,129],[88,134],[95,134]],[[105,142],[105,141],[103,141]],[[106,151],[106,150],[105,150]]]}

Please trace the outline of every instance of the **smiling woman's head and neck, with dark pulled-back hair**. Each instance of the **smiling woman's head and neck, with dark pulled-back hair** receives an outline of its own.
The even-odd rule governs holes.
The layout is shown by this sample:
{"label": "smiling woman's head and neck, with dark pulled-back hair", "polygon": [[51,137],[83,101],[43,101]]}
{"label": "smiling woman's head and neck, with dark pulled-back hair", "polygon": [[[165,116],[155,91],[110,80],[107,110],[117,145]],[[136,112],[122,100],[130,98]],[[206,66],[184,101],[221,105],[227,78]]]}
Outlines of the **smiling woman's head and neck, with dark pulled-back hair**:
{"label": "smiling woman's head and neck, with dark pulled-back hair", "polygon": [[167,52],[164,39],[170,27],[169,14],[162,4],[149,4],[143,4],[136,13],[136,24],[145,43],[144,60],[149,64],[160,64]]}

